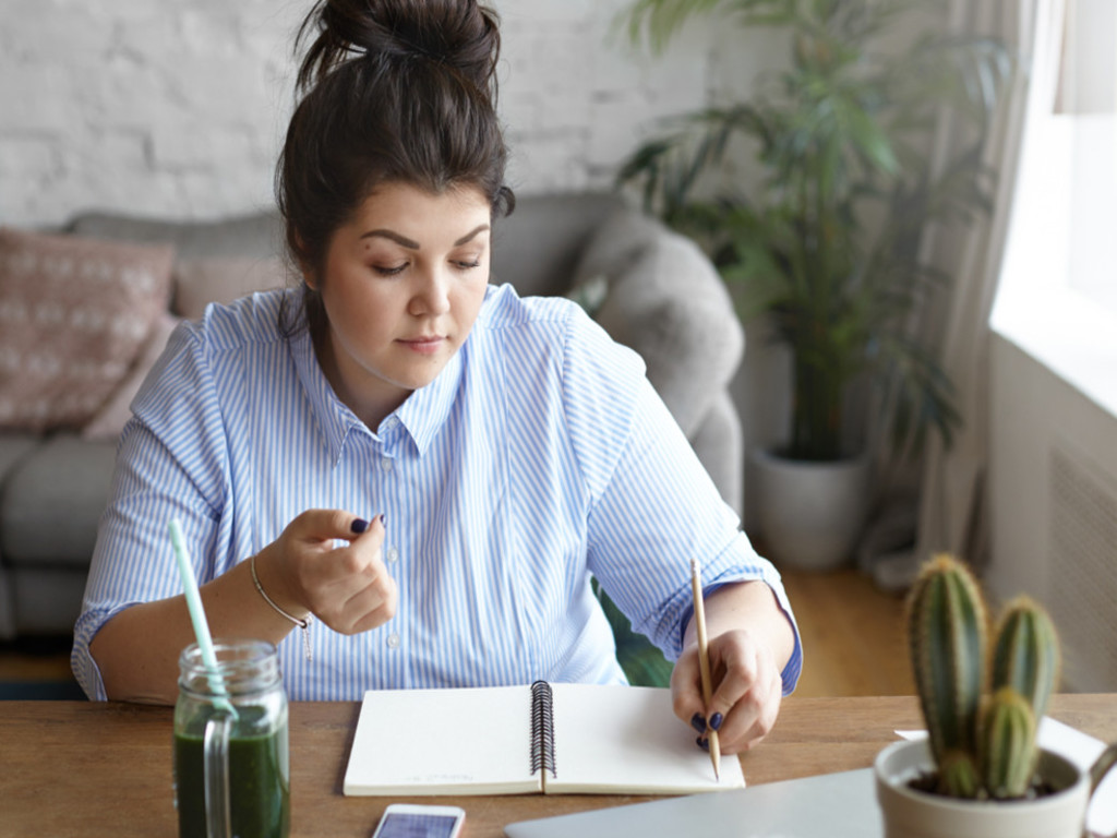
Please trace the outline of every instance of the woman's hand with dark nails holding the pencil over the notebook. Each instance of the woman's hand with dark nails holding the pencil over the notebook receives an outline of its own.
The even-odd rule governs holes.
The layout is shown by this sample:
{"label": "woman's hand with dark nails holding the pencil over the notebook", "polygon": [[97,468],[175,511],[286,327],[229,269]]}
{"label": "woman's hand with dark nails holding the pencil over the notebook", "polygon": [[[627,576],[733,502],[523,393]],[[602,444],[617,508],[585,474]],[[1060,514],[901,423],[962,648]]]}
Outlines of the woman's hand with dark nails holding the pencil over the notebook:
{"label": "woman's hand with dark nails holding the pencil over the notebook", "polygon": [[780,714],[783,697],[781,667],[772,648],[747,629],[732,629],[709,640],[712,695],[703,702],[698,642],[690,642],[671,673],[675,714],[691,724],[699,737],[705,723],[717,730],[722,753],[735,754],[756,745]]}

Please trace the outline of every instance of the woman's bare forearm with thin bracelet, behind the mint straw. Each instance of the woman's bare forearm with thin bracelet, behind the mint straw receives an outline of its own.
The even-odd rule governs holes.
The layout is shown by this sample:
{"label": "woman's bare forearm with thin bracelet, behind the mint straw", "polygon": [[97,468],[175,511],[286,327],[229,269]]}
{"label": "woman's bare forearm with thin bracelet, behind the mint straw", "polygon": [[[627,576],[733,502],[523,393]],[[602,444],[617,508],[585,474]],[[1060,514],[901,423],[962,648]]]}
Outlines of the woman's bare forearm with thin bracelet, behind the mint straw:
{"label": "woman's bare forearm with thin bracelet, behind the mint straw", "polygon": [[[265,590],[269,570],[261,555],[258,572]],[[202,585],[200,593],[214,638],[251,637],[278,644],[294,628],[260,597],[248,562]],[[173,704],[179,655],[194,639],[185,597],[178,596],[121,611],[93,638],[89,653],[109,699]]]}

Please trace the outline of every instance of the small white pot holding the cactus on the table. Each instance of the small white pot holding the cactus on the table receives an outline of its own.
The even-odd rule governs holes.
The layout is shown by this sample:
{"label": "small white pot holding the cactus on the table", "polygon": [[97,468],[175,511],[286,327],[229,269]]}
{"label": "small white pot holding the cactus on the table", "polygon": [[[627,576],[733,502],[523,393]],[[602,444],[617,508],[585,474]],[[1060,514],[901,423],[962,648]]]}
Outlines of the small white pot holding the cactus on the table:
{"label": "small white pot holding the cactus on the table", "polygon": [[958,800],[916,791],[908,781],[933,771],[926,740],[897,742],[873,763],[885,838],[1082,838],[1091,778],[1051,751],[1040,774],[1057,791],[1035,800]]}

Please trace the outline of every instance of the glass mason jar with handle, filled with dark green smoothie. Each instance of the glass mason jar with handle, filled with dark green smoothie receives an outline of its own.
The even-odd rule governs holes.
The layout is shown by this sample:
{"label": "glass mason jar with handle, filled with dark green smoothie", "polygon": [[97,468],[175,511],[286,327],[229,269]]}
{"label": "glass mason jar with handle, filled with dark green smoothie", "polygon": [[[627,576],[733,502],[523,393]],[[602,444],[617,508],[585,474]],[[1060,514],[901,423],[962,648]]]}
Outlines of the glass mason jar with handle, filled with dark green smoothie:
{"label": "glass mason jar with handle, filled with dark green smoothie", "polygon": [[275,646],[217,640],[179,657],[174,799],[180,838],[287,838],[287,693]]}

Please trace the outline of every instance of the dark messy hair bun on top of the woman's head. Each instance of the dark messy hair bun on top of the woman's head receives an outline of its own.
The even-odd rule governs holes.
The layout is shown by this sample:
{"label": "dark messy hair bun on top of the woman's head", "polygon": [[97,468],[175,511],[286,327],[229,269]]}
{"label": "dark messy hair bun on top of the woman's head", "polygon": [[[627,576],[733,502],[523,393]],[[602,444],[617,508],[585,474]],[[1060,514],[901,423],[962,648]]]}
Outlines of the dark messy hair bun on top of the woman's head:
{"label": "dark messy hair bun on top of the woman's head", "polygon": [[317,38],[299,70],[306,88],[359,57],[428,59],[456,69],[479,89],[496,92],[498,17],[477,0],[318,0],[299,30]]}

